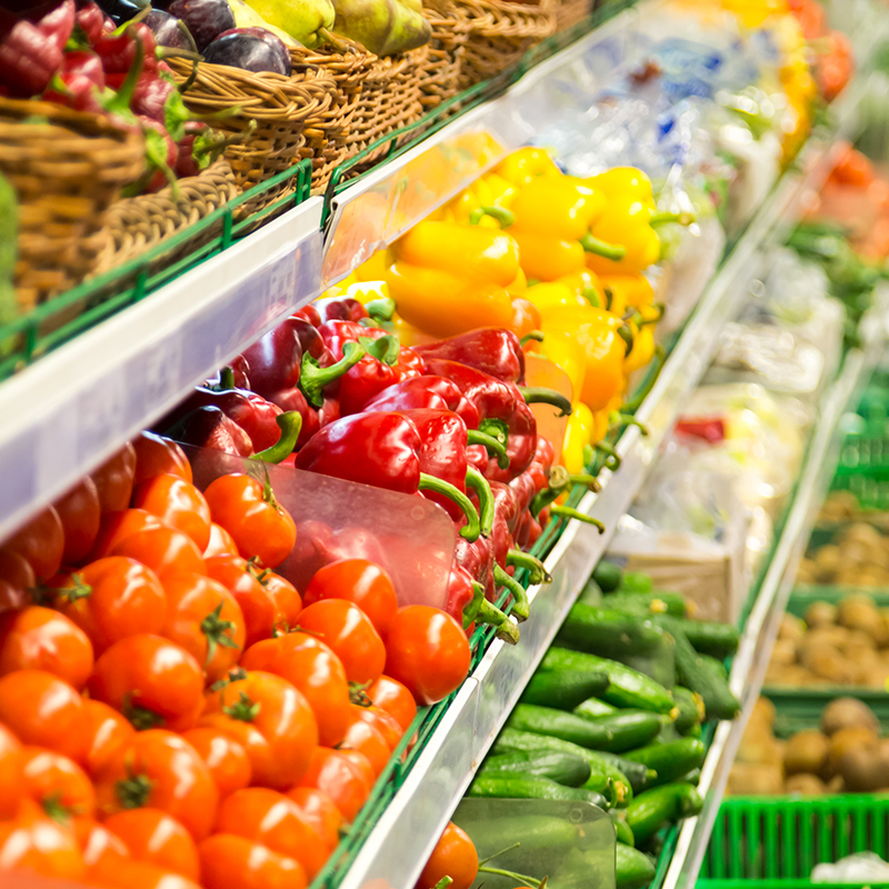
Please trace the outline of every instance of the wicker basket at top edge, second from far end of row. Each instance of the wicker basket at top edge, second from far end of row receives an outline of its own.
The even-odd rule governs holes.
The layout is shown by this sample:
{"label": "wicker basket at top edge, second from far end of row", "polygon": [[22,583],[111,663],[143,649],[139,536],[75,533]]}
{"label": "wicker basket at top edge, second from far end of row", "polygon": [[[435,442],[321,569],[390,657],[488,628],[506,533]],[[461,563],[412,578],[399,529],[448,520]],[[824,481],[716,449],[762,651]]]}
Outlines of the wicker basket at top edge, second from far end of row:
{"label": "wicker basket at top edge, second from far end of row", "polygon": [[469,89],[516,64],[556,32],[556,0],[539,6],[506,0],[453,0],[471,21],[460,63],[460,89]]}

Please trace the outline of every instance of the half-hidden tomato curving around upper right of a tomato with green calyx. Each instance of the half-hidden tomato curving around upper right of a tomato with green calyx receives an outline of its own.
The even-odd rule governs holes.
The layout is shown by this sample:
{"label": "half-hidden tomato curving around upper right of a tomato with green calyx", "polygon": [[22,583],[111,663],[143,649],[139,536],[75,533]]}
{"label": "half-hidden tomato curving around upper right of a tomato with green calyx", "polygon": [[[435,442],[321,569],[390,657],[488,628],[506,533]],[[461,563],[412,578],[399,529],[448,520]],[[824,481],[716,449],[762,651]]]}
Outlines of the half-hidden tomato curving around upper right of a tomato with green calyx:
{"label": "half-hidden tomato curving around upper right of a tomato with green calyx", "polygon": [[304,632],[289,632],[248,648],[241,666],[274,673],[296,686],[312,708],[319,743],[336,747],[343,739],[351,718],[349,682],[342,662],[323,642]]}

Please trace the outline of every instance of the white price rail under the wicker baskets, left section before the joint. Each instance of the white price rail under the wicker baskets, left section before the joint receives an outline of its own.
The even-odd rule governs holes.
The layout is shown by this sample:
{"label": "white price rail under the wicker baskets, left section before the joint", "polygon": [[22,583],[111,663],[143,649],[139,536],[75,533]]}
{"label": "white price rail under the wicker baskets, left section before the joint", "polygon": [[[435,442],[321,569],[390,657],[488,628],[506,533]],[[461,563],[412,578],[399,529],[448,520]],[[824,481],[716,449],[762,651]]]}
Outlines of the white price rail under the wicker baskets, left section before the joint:
{"label": "white price rail under the wicker baskets, left section before the joint", "polygon": [[320,292],[321,200],[3,382],[0,538]]}

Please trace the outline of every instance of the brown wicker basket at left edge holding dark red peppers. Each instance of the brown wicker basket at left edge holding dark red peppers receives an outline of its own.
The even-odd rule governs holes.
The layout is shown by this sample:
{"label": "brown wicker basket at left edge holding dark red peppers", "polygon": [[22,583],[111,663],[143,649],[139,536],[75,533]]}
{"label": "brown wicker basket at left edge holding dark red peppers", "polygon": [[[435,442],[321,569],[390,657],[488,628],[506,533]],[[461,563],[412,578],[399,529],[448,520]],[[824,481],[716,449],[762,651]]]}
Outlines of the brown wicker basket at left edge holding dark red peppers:
{"label": "brown wicker basket at left edge holding dark red peppers", "polygon": [[93,271],[108,243],[106,211],[143,168],[137,131],[50,102],[0,98],[0,172],[19,200],[21,311]]}

